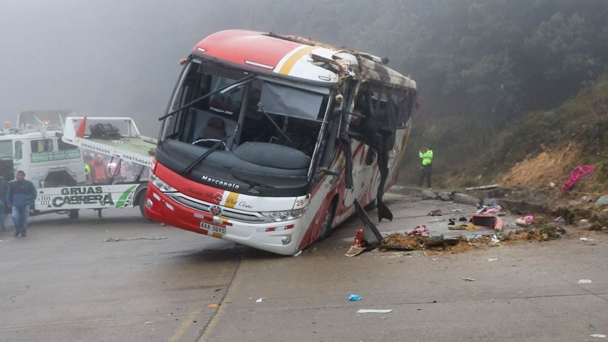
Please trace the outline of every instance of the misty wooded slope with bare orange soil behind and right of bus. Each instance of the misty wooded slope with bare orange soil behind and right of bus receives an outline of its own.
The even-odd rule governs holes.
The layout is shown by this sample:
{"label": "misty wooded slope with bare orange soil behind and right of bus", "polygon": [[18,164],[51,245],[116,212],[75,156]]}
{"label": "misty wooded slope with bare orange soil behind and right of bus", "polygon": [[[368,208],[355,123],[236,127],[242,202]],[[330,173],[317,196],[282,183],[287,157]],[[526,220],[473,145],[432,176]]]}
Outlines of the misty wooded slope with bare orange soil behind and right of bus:
{"label": "misty wooded slope with bare orange soil behind and right of bus", "polygon": [[[223,5],[235,9],[232,19],[240,19],[243,28],[387,55],[391,68],[410,74],[418,83],[421,107],[402,184],[418,183],[418,150],[430,145],[436,156],[434,187],[504,182],[520,163],[520,174],[530,176],[527,187],[545,186],[548,178],[561,184],[573,166],[591,164],[598,169],[585,184],[593,181],[596,190],[607,189],[604,0],[525,5],[511,0],[310,0],[298,4],[297,11],[291,3],[268,6],[266,0]],[[319,9],[326,15],[308,15]],[[269,22],[273,27],[267,27]],[[542,162],[553,160],[545,172],[554,174],[533,176],[542,169],[526,170],[521,164],[539,155]]]}

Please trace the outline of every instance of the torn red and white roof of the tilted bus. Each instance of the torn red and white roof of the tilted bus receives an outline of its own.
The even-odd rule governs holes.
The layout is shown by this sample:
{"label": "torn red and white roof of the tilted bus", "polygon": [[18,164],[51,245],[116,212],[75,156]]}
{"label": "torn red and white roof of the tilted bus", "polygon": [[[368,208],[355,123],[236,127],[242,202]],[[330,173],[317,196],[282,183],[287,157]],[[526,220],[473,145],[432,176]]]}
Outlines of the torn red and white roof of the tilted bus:
{"label": "torn red and white roof of the tilted bus", "polygon": [[350,76],[416,88],[409,77],[378,63],[378,57],[292,35],[224,30],[201,40],[193,53],[311,82],[339,83]]}

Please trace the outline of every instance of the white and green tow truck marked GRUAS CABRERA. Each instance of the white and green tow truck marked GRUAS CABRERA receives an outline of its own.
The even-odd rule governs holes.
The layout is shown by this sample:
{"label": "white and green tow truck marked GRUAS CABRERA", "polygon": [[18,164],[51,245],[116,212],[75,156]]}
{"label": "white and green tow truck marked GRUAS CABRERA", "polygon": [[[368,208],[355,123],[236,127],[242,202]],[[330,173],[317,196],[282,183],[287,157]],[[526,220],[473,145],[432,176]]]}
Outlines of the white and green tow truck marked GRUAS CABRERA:
{"label": "white and green tow truck marked GRUAS CABRERA", "polygon": [[[0,175],[10,181],[18,170],[26,173],[38,189],[32,215],[55,212],[77,218],[80,209],[94,209],[101,217],[101,209],[140,206],[156,141],[142,137],[129,117],[91,117],[89,123],[115,125],[94,124],[92,132],[78,137],[75,125],[83,118],[72,115],[68,110],[25,111],[16,127],[6,123],[0,132]],[[100,127],[112,127],[111,136],[103,136],[103,129],[99,135]],[[83,155],[110,156],[107,176],[87,180],[85,163],[90,161]]]}

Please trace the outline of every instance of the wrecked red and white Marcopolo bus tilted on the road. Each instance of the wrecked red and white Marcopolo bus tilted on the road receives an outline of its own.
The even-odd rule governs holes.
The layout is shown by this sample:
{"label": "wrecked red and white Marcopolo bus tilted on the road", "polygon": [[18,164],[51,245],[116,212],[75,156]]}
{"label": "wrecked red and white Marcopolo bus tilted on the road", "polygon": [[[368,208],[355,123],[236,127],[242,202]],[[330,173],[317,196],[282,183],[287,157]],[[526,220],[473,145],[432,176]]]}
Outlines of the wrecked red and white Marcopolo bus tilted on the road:
{"label": "wrecked red and white Marcopolo bus tilted on the road", "polygon": [[416,83],[381,58],[297,36],[227,30],[182,60],[145,214],[292,255],[362,207],[392,220]]}

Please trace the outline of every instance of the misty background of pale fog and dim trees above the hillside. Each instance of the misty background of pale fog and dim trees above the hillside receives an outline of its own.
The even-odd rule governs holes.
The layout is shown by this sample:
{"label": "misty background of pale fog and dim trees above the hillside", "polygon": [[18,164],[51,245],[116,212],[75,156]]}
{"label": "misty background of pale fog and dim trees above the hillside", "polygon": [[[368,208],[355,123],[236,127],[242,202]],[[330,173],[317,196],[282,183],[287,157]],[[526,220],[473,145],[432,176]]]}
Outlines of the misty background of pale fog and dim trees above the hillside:
{"label": "misty background of pale fog and dim trees above the hillside", "polygon": [[[525,4],[525,5],[523,5]],[[72,109],[131,116],[156,136],[181,70],[210,33],[313,37],[376,55],[418,83],[430,117],[500,130],[593,84],[608,66],[604,0],[4,1],[0,120]],[[420,126],[416,126],[423,124]],[[496,131],[488,130],[486,141]]]}

